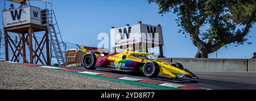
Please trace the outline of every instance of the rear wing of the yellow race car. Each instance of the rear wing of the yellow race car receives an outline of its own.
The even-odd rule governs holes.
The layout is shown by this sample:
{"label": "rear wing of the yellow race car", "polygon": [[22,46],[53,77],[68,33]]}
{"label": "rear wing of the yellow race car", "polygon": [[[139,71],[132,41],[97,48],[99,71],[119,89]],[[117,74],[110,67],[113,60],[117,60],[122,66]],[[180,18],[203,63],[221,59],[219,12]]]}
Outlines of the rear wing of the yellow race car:
{"label": "rear wing of the yellow race car", "polygon": [[108,48],[95,48],[95,47],[85,47],[81,46],[81,51],[82,53],[88,53],[88,52],[93,52],[93,53],[98,53],[98,54],[104,54],[108,55],[109,54],[109,49]]}

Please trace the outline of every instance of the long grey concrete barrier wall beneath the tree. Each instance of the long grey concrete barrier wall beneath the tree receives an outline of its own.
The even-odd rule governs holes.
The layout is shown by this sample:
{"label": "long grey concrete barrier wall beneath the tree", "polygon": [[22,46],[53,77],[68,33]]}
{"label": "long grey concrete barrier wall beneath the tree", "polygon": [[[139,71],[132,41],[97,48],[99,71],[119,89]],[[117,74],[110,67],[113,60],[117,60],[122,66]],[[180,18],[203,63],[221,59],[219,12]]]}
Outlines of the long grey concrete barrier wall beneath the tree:
{"label": "long grey concrete barrier wall beneath the tree", "polygon": [[180,62],[191,71],[256,71],[256,60],[215,58],[159,58],[167,62]]}

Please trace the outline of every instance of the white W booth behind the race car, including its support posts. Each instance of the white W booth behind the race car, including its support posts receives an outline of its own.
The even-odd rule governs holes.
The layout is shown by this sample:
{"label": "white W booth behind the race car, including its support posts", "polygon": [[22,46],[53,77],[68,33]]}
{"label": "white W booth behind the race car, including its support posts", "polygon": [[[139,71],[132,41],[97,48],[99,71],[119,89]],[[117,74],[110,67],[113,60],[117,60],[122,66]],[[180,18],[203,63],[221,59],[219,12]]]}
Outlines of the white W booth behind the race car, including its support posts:
{"label": "white W booth behind the race car, including its support posts", "polygon": [[110,29],[112,50],[133,47],[134,51],[148,52],[149,48],[159,47],[159,57],[163,57],[164,45],[162,27],[148,24],[128,25],[125,27],[112,27]]}

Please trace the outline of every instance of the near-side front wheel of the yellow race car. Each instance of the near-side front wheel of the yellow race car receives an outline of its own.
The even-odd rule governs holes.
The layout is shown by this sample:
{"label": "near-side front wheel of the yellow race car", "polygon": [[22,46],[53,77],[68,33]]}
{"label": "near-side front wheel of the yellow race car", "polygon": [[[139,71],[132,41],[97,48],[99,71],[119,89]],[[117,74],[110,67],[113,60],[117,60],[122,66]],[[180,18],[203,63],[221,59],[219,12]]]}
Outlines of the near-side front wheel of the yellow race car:
{"label": "near-side front wheel of the yellow race car", "polygon": [[143,74],[145,77],[155,78],[160,72],[159,65],[154,61],[146,62],[143,66]]}

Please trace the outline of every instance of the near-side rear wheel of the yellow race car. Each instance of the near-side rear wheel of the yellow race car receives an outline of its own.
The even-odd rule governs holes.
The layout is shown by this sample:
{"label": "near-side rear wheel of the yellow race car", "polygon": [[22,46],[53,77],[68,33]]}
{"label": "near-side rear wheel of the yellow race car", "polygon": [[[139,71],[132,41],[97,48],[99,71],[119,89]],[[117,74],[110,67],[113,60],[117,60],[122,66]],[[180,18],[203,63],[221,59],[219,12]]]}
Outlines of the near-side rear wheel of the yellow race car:
{"label": "near-side rear wheel of the yellow race car", "polygon": [[97,58],[94,53],[85,53],[84,57],[82,57],[82,66],[85,69],[94,70],[94,66],[96,65]]}

